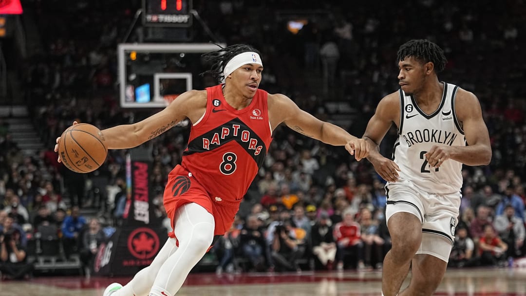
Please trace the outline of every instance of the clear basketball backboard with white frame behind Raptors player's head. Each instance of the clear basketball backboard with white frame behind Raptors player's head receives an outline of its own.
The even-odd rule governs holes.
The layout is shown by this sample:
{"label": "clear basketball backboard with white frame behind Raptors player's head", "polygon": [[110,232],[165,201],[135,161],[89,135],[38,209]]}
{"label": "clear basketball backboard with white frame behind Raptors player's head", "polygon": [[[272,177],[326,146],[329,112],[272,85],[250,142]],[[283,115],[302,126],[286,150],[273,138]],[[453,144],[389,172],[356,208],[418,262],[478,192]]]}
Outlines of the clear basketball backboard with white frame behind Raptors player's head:
{"label": "clear basketball backboard with white frame behind Raptors player's head", "polygon": [[202,89],[201,55],[218,49],[211,43],[119,44],[120,106],[164,108],[185,91]]}

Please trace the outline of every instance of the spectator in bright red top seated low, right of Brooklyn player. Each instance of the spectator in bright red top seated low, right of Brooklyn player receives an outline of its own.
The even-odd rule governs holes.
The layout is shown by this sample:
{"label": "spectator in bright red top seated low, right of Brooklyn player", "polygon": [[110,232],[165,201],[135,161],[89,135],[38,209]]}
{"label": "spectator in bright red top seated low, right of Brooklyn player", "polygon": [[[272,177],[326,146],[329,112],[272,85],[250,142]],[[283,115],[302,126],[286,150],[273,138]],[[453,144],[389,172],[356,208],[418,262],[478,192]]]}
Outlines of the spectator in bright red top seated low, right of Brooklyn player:
{"label": "spectator in bright red top seated low, right of Brooklyn player", "polygon": [[503,266],[508,245],[495,233],[493,226],[486,224],[479,240],[480,263],[484,265]]}

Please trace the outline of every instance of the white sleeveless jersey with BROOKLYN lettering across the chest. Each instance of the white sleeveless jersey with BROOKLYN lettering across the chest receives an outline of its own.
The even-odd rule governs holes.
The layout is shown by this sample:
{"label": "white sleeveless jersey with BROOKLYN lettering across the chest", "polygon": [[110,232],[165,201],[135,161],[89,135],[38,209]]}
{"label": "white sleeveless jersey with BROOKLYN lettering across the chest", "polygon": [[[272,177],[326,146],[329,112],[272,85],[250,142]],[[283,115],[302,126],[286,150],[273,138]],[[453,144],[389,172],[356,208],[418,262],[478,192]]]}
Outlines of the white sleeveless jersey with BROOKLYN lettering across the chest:
{"label": "white sleeveless jersey with BROOKLYN lettering across the chest", "polygon": [[459,192],[462,187],[462,164],[448,159],[439,168],[426,161],[434,145],[466,146],[464,131],[455,114],[458,86],[443,83],[440,106],[432,114],[424,113],[413,96],[400,89],[400,127],[393,150],[393,160],[400,167],[400,178],[411,181],[429,193]]}

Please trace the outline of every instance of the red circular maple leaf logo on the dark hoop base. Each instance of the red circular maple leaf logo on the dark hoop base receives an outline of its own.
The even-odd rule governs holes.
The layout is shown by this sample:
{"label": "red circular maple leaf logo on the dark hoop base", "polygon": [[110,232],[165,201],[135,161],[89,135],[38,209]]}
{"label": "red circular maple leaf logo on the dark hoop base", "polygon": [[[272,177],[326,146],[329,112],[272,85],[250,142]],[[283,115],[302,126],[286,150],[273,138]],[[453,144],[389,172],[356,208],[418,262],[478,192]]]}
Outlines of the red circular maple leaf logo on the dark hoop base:
{"label": "red circular maple leaf logo on the dark hoop base", "polygon": [[141,227],[128,236],[128,251],[137,259],[154,257],[159,250],[159,237],[155,231]]}

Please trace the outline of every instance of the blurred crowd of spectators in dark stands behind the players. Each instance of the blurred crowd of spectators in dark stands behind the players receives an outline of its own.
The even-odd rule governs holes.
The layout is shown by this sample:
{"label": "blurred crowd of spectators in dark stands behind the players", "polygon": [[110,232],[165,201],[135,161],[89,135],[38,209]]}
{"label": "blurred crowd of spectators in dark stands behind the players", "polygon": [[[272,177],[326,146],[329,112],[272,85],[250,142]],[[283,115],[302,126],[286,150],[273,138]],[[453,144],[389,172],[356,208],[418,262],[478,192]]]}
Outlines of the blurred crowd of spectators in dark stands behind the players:
{"label": "blurred crowd of spectators in dark stands behind the players", "polygon": [[[316,13],[294,34],[277,12],[298,11],[299,3]],[[28,257],[36,258],[37,252],[60,250],[54,264],[73,257],[88,267],[97,246],[122,223],[126,151],[110,151],[101,168],[78,174],[56,161],[56,137],[73,120],[104,129],[157,111],[119,106],[116,48],[139,1],[28,0],[23,5],[33,22],[24,21],[30,50],[24,58],[13,48],[2,50],[19,82],[27,123],[43,148],[28,153],[17,143],[12,121],[0,119],[0,259],[3,276],[14,278],[31,273]],[[247,43],[261,51],[262,89],[286,94],[309,113],[358,136],[378,101],[398,89],[398,47],[411,38],[436,42],[449,60],[439,78],[478,96],[493,148],[489,166],[463,169],[450,266],[505,266],[524,256],[523,1],[266,1],[263,6],[222,0],[194,1],[194,8],[220,42]],[[197,22],[191,30],[192,42],[212,39]],[[127,42],[143,42],[145,35],[135,26]],[[205,70],[185,67],[192,73]],[[194,87],[212,84],[204,77]],[[348,108],[335,108],[335,102]],[[385,181],[369,162],[356,162],[341,147],[282,126],[274,135],[234,226],[204,260],[214,262],[218,273],[380,269],[390,247]],[[385,156],[396,136],[393,128],[382,142]],[[149,186],[159,217],[166,216],[162,193],[168,172],[180,162],[187,140],[188,127],[177,126],[143,147],[153,159]],[[164,225],[170,229],[167,219]],[[89,274],[89,268],[82,272]]]}

